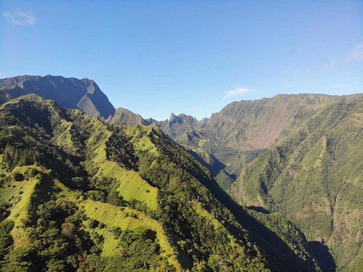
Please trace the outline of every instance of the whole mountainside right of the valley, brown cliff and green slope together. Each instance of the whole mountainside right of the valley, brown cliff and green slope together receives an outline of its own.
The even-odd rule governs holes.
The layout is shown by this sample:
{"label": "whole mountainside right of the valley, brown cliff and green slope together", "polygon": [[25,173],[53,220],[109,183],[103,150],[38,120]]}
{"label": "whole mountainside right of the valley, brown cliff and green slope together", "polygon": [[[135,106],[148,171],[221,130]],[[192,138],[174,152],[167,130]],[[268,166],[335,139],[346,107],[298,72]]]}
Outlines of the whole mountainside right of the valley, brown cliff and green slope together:
{"label": "whole mountainside right of the valley, brown cliff and green slope together", "polygon": [[297,224],[323,271],[360,271],[362,99],[299,94],[232,102],[175,141],[241,204]]}

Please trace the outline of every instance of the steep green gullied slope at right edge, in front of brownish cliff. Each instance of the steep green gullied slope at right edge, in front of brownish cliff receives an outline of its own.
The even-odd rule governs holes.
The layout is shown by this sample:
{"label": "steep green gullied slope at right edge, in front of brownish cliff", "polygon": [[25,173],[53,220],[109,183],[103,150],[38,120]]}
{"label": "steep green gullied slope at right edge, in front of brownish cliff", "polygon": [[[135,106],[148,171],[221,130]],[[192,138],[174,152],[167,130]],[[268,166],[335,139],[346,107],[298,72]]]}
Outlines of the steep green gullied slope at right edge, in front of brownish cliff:
{"label": "steep green gullied slope at right edge, in front of brownish cliff", "polygon": [[363,95],[315,112],[244,167],[232,191],[297,224],[326,271],[362,271]]}

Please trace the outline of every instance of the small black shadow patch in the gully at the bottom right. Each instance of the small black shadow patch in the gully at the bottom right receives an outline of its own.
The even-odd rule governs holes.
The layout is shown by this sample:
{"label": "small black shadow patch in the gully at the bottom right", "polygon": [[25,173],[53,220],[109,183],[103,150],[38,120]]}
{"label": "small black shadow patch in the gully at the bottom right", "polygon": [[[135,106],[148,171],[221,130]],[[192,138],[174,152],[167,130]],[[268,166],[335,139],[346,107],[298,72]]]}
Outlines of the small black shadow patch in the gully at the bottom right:
{"label": "small black shadow patch in the gully at the bottom right", "polygon": [[326,245],[319,241],[311,241],[309,247],[314,252],[319,267],[323,272],[335,272],[337,266]]}

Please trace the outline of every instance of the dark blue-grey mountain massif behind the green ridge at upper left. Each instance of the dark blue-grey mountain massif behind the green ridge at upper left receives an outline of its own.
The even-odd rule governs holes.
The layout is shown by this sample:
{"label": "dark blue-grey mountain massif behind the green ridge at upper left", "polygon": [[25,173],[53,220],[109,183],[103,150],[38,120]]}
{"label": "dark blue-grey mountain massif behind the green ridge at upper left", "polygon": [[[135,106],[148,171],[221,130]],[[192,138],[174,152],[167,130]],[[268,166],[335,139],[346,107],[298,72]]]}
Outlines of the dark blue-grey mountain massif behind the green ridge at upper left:
{"label": "dark blue-grey mountain massif behind the green ridge at upper left", "polygon": [[17,76],[0,79],[1,93],[10,98],[37,94],[57,101],[68,109],[80,109],[91,116],[107,119],[115,108],[93,80],[61,76]]}

